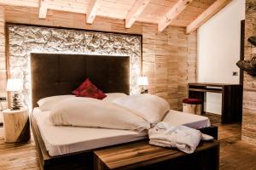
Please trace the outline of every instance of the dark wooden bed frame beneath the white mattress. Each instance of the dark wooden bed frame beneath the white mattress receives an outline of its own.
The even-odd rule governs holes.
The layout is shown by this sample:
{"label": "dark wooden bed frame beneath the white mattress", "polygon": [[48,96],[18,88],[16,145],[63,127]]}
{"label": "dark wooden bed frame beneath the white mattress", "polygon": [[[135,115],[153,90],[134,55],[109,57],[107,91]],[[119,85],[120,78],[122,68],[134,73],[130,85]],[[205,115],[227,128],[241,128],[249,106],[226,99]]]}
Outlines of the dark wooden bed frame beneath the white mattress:
{"label": "dark wooden bed frame beneath the white mattress", "polygon": [[[35,117],[31,116],[32,133],[38,150],[38,157],[41,169],[44,170],[59,170],[59,169],[88,169],[93,170],[94,168],[94,150],[80,151],[72,154],[66,154],[61,156],[49,156],[48,151],[45,148],[44,140],[41,137],[41,133],[38,129],[38,124]],[[201,132],[209,135],[218,135],[218,127],[205,127],[199,129]],[[213,132],[213,133],[212,133]],[[217,136],[216,136],[217,137]],[[217,139],[217,138],[215,138]],[[137,141],[138,142],[138,141]],[[121,144],[116,144],[121,145]],[[102,150],[108,147],[98,148],[96,150]],[[96,170],[96,169],[95,169]]]}

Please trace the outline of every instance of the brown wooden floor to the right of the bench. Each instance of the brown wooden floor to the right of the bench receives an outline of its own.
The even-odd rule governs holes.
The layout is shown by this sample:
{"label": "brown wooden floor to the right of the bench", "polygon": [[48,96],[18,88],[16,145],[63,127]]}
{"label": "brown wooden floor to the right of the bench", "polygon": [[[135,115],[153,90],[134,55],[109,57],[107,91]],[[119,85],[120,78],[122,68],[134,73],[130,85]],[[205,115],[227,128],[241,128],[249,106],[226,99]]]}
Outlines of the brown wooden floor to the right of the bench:
{"label": "brown wooden floor to the right of the bench", "polygon": [[256,170],[256,145],[241,142],[241,124],[220,123],[220,116],[207,114],[218,126],[220,170]]}

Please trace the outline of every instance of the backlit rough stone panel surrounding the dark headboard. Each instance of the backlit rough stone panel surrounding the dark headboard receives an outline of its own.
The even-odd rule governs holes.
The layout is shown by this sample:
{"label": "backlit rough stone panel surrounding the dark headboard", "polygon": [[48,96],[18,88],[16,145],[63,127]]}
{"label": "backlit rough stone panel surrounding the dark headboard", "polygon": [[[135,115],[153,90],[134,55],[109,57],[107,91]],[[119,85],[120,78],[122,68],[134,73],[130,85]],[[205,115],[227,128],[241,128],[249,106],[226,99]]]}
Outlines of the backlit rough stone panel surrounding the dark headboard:
{"label": "backlit rough stone panel surrounding the dark headboard", "polygon": [[31,53],[103,54],[130,57],[131,94],[138,94],[142,59],[141,36],[77,31],[38,26],[8,25],[9,77],[22,78],[24,104],[31,104]]}

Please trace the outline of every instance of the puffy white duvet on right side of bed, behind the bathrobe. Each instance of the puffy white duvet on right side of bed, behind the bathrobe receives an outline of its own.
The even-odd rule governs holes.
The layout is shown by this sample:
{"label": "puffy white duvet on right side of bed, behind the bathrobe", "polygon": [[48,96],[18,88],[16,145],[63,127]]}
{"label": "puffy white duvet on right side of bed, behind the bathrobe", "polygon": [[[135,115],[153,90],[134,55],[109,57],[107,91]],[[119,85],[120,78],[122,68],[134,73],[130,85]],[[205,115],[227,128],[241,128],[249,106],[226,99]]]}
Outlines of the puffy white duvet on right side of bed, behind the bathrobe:
{"label": "puffy white duvet on right side of bed, behind the bathrobe", "polygon": [[152,124],[160,122],[170,110],[170,105],[165,99],[152,94],[125,96],[114,99],[113,103],[137,113],[138,116]]}

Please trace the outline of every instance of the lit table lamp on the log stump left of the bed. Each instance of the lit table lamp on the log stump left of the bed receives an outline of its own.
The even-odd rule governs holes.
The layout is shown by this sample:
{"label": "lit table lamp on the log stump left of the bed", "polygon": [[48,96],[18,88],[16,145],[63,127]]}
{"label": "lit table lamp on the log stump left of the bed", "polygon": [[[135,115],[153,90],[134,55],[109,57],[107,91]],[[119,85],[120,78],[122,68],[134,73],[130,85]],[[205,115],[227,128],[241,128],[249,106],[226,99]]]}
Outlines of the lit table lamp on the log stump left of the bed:
{"label": "lit table lamp on the log stump left of the bed", "polygon": [[23,82],[21,79],[8,79],[7,81],[7,91],[9,92],[13,92],[13,96],[12,96],[12,106],[11,106],[11,110],[20,110],[20,107],[22,106],[20,103],[20,95],[19,92],[21,90],[23,90]]}

